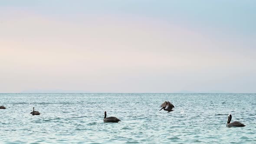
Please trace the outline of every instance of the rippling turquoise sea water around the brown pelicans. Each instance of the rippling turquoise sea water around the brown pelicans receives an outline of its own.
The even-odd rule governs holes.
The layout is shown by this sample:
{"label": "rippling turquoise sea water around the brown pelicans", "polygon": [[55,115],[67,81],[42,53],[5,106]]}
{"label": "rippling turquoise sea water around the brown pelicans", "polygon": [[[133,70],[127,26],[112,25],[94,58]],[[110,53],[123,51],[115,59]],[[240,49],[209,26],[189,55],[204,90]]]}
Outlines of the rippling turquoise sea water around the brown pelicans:
{"label": "rippling turquoise sea water around the brown pelicans", "polygon": [[[159,111],[165,100],[174,111]],[[256,143],[256,94],[0,94],[0,105],[0,143]],[[246,127],[227,128],[228,114]]]}

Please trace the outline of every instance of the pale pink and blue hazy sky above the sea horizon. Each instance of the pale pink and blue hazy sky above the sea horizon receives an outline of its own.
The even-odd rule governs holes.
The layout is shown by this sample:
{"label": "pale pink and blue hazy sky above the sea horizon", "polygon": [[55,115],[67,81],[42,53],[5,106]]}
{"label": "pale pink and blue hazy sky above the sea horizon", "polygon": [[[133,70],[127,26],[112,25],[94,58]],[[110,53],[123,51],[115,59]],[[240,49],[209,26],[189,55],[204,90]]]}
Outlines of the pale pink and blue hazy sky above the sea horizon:
{"label": "pale pink and blue hazy sky above the sea horizon", "polygon": [[0,93],[256,93],[255,0],[2,0]]}

